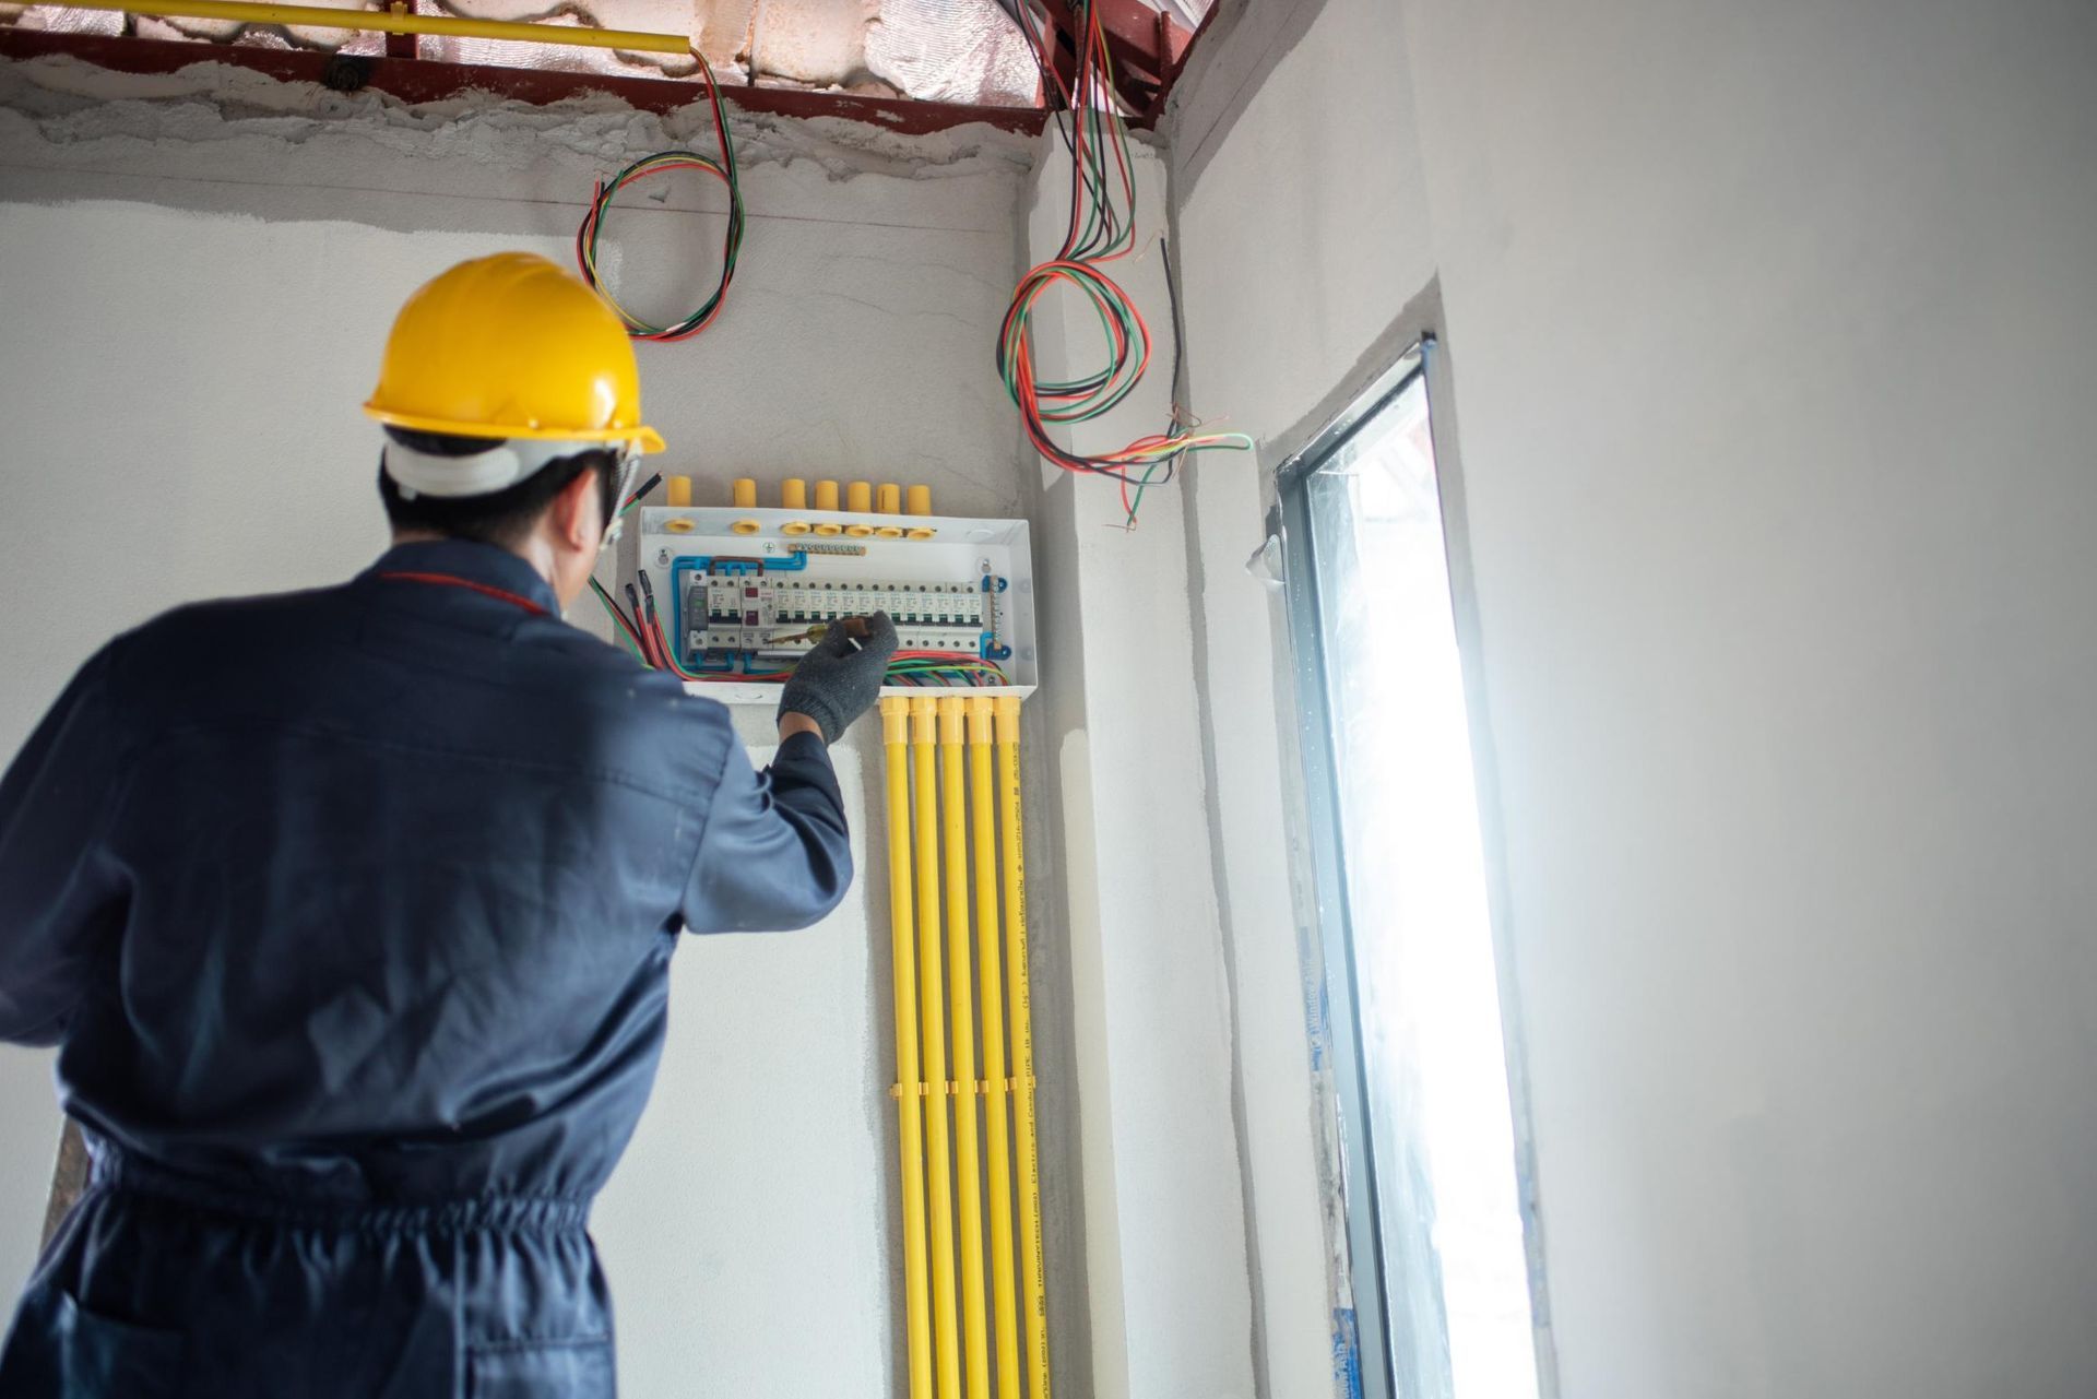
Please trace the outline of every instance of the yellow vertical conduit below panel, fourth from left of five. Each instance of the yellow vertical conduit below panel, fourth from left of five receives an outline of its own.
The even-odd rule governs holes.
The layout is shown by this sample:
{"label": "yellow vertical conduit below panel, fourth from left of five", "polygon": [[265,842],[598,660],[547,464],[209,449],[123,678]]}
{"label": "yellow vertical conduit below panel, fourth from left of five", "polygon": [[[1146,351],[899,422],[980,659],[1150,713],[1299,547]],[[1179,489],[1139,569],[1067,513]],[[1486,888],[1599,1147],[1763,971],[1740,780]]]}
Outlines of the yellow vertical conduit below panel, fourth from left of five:
{"label": "yellow vertical conduit below panel, fourth from left of five", "polygon": [[[925,487],[910,487],[916,495]],[[1019,1290],[1013,1275],[1013,1080],[1004,1057],[1004,973],[998,952],[998,808],[990,776],[992,703],[969,698],[969,845],[975,852],[975,946],[983,986],[983,1080],[990,1103],[990,1292],[998,1393],[1019,1399]]]}

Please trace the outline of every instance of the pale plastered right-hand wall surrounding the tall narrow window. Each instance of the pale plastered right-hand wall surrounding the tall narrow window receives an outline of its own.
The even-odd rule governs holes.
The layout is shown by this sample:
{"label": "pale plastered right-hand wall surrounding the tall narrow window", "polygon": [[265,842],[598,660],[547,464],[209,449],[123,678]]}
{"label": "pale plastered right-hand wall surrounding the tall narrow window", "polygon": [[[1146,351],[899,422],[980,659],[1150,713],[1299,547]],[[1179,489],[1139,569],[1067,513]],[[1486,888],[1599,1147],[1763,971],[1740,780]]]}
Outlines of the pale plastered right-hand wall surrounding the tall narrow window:
{"label": "pale plastered right-hand wall surrounding the tall narrow window", "polygon": [[1183,111],[1193,405],[1273,466],[1439,273],[1562,1393],[2097,1391],[2097,10],[1279,34]]}

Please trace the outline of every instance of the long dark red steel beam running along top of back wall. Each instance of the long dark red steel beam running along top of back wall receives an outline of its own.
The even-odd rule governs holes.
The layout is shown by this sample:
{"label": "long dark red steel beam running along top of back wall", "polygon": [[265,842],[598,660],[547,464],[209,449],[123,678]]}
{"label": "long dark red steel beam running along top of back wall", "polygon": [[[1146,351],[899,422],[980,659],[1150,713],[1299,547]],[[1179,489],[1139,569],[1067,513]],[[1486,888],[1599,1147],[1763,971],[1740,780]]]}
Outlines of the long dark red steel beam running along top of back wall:
{"label": "long dark red steel beam running along top of back wall", "polygon": [[[115,73],[174,73],[195,63],[229,63],[281,82],[352,84],[373,88],[405,103],[434,103],[461,92],[493,92],[520,103],[549,105],[581,92],[610,92],[640,111],[675,111],[700,101],[702,86],[688,78],[623,78],[608,73],[556,73],[539,67],[495,67],[487,63],[434,63],[428,59],[350,59],[304,48],[254,48],[247,44],[203,44],[187,40],[134,40],[101,34],[50,34],[44,29],[0,29],[0,57],[38,59],[71,55]],[[333,69],[333,71],[331,71]],[[721,99],[742,111],[786,117],[845,117],[906,136],[983,122],[1023,136],[1040,134],[1040,107],[965,107],[960,103],[914,103],[893,96],[847,92],[803,92],[799,88],[747,88],[721,84]]]}

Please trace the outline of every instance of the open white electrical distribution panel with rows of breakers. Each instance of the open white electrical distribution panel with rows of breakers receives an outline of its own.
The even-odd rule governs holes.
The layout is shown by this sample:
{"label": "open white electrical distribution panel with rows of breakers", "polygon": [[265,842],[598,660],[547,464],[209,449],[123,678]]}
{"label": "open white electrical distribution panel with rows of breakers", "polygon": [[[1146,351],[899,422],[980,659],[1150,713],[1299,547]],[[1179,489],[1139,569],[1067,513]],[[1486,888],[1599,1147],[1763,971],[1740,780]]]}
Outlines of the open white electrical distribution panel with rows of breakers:
{"label": "open white electrical distribution panel with rows of breakers", "polygon": [[644,505],[637,562],[688,688],[728,705],[776,705],[828,627],[870,612],[923,667],[883,694],[1038,684],[1025,520]]}

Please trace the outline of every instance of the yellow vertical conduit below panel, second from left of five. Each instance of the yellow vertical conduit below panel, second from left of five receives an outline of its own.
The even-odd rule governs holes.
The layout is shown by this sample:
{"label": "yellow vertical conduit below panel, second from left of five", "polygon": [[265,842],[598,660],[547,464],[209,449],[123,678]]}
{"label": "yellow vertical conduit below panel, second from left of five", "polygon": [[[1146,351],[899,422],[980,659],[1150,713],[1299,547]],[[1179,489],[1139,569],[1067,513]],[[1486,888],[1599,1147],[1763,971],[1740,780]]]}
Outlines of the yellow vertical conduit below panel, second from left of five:
{"label": "yellow vertical conduit below panel, second from left of five", "polygon": [[[858,485],[858,482],[856,482]],[[939,711],[933,696],[910,701],[910,795],[916,818],[918,1028],[923,1030],[925,1158],[931,1240],[933,1361],[939,1399],[960,1399],[960,1338],[954,1311],[954,1164],[948,1131],[946,994],[939,967],[939,782],[933,770]]]}

